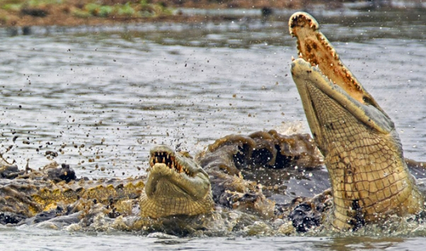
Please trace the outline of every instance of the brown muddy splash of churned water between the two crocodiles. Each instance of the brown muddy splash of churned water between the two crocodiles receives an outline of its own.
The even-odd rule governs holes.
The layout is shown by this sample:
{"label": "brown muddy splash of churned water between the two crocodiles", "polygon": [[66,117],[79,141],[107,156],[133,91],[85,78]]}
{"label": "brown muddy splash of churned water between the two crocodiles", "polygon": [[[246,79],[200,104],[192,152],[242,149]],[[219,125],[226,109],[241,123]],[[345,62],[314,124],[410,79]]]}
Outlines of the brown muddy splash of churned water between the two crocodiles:
{"label": "brown muddy splash of churned water between the two crocodiles", "polygon": [[262,218],[286,217],[301,197],[328,187],[327,181],[316,184],[328,177],[309,134],[231,134],[217,139],[197,159],[210,176],[216,204]]}

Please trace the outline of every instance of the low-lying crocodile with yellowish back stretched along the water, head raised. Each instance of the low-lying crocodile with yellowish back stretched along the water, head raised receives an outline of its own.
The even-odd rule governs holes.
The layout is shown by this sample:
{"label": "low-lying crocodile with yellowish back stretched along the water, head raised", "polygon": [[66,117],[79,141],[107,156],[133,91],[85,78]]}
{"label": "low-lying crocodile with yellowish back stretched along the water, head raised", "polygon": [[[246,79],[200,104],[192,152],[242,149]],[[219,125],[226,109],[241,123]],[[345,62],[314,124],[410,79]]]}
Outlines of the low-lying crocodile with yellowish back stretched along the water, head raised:
{"label": "low-lying crocodile with yellowish back stretched along the water, head raised", "polygon": [[53,162],[40,170],[28,165],[18,170],[1,158],[0,218],[19,223],[46,212],[63,216],[89,211],[96,204],[110,217],[132,215],[135,207],[139,216],[150,218],[212,211],[209,177],[188,153],[156,146],[149,162],[147,177],[88,180],[77,179],[69,165]]}

